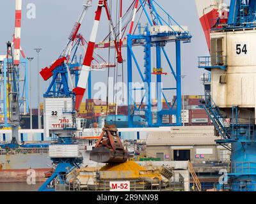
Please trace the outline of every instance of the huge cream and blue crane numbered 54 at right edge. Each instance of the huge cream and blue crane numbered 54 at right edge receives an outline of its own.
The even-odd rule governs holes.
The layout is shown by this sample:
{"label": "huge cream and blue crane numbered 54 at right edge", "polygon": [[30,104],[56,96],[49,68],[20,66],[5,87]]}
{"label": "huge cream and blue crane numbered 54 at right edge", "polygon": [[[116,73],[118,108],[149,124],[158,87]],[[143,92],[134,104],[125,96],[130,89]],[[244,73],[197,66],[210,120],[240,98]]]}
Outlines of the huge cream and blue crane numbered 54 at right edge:
{"label": "huge cream and blue crane numbered 54 at right edge", "polygon": [[199,16],[211,25],[206,32],[211,56],[198,57],[198,68],[211,72],[211,89],[209,82],[205,83],[202,107],[218,133],[216,143],[231,151],[228,184],[220,189],[256,191],[255,103],[254,99],[246,101],[252,99],[255,87],[256,76],[251,69],[256,66],[255,50],[250,46],[256,36],[256,2],[231,0],[228,15],[223,17],[225,11],[220,10],[214,24],[211,13],[218,14],[216,6],[211,6],[211,1],[196,0],[196,4],[198,13],[203,13],[205,6],[210,8]]}

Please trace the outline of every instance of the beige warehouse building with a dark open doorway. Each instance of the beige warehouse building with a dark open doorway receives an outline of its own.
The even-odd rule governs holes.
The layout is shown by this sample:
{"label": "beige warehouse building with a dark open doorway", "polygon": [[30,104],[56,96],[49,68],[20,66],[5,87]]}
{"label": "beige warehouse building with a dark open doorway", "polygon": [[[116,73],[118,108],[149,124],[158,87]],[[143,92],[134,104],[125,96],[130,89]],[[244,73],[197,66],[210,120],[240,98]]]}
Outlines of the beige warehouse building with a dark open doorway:
{"label": "beige warehouse building with a dark open doorway", "polygon": [[229,161],[230,152],[216,144],[216,139],[214,126],[173,127],[170,131],[148,133],[147,157],[191,163]]}

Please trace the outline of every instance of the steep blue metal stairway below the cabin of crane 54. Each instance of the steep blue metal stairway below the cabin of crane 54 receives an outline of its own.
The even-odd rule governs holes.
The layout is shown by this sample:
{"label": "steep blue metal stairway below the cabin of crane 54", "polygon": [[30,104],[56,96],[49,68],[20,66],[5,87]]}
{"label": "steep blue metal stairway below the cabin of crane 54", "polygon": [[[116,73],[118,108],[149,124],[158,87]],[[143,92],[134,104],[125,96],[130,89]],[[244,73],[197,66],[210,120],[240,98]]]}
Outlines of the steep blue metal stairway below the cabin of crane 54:
{"label": "steep blue metal stairway below the cabin of crane 54", "polygon": [[215,128],[218,130],[220,133],[220,136],[222,136],[225,139],[230,138],[230,133],[229,133],[229,124],[225,122],[225,117],[221,114],[220,109],[214,101],[211,98],[211,95],[208,93],[205,93],[205,99],[201,100],[201,105],[207,115],[211,118]]}

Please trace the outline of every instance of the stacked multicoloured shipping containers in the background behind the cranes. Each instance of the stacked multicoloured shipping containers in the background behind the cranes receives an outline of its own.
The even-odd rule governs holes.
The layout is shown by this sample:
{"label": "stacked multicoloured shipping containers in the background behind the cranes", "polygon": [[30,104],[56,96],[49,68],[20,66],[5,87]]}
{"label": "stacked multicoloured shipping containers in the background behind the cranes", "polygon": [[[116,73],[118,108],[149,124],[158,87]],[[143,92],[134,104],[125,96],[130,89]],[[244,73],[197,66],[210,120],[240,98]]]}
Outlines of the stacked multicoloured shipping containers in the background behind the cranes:
{"label": "stacked multicoloured shipping containers in the background behind the cranes", "polygon": [[[175,101],[175,96],[172,102],[169,103],[170,106],[173,105]],[[204,108],[200,108],[200,99],[202,96],[184,96],[184,115],[181,114],[182,119],[184,119],[185,126],[211,126],[211,119],[209,119],[207,113],[205,112]],[[145,105],[142,105],[143,108]],[[173,108],[176,108],[175,105]],[[182,105],[183,108],[183,105]],[[117,112],[115,111],[116,106],[115,104],[109,104],[108,106],[108,115],[119,115],[120,118],[122,116],[127,116],[128,114],[128,106],[121,105],[117,107]],[[163,101],[163,109],[168,109],[168,105],[165,101]],[[157,106],[152,107],[152,118],[153,122],[156,123],[156,110]],[[100,99],[86,99],[86,102],[81,103],[81,107],[79,112],[77,113],[77,117],[81,117],[88,120],[88,125],[90,123],[99,122],[99,118],[106,117],[107,111],[107,103]],[[183,112],[183,111],[182,111]],[[38,114],[37,109],[32,110],[33,114],[33,128],[34,124],[37,124],[37,117]],[[143,117],[143,116],[141,116]],[[29,129],[29,116],[22,118],[22,129]],[[120,120],[126,120],[127,117],[122,117]],[[0,119],[1,120],[1,119]],[[36,120],[36,121],[35,121]],[[1,121],[0,121],[1,122]],[[123,121],[124,123],[125,121]],[[176,123],[175,115],[163,115],[163,123],[164,124],[174,124]],[[183,120],[182,120],[183,123]],[[126,123],[125,123],[126,124]]]}

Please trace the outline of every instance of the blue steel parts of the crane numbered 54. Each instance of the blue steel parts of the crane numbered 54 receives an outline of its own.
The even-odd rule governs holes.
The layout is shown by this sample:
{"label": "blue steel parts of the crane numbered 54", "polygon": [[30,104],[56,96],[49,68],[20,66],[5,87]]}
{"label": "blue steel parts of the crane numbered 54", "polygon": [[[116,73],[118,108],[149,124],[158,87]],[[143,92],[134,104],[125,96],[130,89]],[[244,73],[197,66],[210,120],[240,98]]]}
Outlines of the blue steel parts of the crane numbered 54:
{"label": "blue steel parts of the crane numbered 54", "polygon": [[[255,0],[231,0],[228,25],[220,25],[214,30],[239,31],[241,29],[255,29],[256,25]],[[228,56],[227,56],[228,57]],[[200,60],[199,60],[200,61]],[[220,66],[202,66],[199,68],[211,70]],[[214,104],[209,93],[205,92],[205,100],[202,101],[209,117],[221,136],[217,143],[227,147],[231,151],[231,168],[228,173],[228,185],[221,186],[231,191],[256,191],[256,126],[255,121],[239,123],[238,107],[232,107],[232,120],[230,124],[225,122],[225,116]],[[231,149],[230,145],[231,144]]]}

